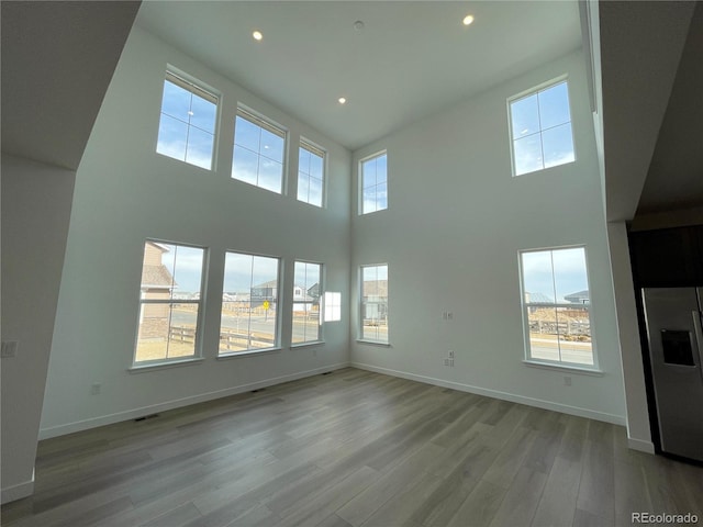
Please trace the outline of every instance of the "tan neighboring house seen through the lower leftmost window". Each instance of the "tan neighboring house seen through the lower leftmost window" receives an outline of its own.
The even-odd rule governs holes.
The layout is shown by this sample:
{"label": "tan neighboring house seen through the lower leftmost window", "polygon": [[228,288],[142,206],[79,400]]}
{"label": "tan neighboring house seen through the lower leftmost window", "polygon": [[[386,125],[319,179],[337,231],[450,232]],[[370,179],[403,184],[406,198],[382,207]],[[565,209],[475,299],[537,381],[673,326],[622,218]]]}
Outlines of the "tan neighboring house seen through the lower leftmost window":
{"label": "tan neighboring house seen through the lower leftmost window", "polygon": [[[142,268],[142,300],[170,300],[176,282],[174,276],[163,264],[168,249],[159,244],[147,242],[144,248]],[[170,304],[142,304],[140,312],[140,340],[163,338],[168,335],[168,313]]]}

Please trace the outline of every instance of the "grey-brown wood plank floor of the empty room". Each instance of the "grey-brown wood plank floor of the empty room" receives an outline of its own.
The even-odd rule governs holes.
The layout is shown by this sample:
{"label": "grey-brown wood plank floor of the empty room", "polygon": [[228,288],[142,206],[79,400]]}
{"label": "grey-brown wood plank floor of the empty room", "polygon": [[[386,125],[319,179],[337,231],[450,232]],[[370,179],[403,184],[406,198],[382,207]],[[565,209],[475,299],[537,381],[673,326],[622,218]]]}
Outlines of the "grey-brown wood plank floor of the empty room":
{"label": "grey-brown wood plank floor of the empty room", "polygon": [[703,469],[622,427],[356,369],[42,441],[7,526],[629,526]]}

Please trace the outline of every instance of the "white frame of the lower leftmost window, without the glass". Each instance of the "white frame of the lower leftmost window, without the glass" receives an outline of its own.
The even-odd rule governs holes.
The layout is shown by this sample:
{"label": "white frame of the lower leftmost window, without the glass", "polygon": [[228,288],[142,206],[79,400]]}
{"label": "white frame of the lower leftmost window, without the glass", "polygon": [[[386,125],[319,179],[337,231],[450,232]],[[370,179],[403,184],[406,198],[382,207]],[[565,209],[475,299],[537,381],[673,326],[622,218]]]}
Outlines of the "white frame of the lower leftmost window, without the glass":
{"label": "white frame of the lower leftmost window, without the glass", "polygon": [[[155,245],[172,245],[176,247],[187,247],[192,249],[201,249],[202,250],[202,267],[200,270],[200,291],[198,299],[144,299],[142,296],[142,276],[144,274],[144,256],[146,254],[146,244],[155,244]],[[207,279],[208,279],[208,267],[209,267],[209,258],[210,251],[207,247],[196,245],[196,244],[187,244],[187,243],[177,243],[177,242],[168,242],[159,238],[145,238],[143,247],[142,247],[142,273],[140,274],[140,300],[137,303],[137,325],[136,325],[136,335],[134,338],[134,350],[132,354],[132,366],[131,370],[138,370],[143,368],[155,368],[163,367],[169,365],[177,365],[181,362],[194,362],[202,360],[202,339],[203,339],[203,330],[204,330],[204,310],[205,310],[205,291],[207,291]],[[142,329],[142,310],[143,305],[170,305],[170,304],[197,304],[198,305],[198,315],[196,316],[196,330],[193,333],[193,355],[189,356],[179,356],[164,359],[154,359],[154,360],[137,360],[137,350],[140,344],[140,333]],[[169,315],[170,316],[170,315]],[[169,321],[169,336],[170,336],[170,321]],[[168,350],[168,346],[167,346]],[[168,351],[167,351],[168,352]]]}

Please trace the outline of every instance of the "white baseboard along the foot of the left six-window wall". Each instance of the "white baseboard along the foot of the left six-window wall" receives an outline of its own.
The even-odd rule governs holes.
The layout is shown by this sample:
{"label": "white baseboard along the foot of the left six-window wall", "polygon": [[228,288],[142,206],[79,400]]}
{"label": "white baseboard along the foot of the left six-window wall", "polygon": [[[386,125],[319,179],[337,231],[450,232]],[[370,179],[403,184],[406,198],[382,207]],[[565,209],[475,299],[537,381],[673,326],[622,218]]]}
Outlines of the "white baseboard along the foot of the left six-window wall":
{"label": "white baseboard along the foot of the left six-window wall", "polygon": [[[227,397],[230,395],[236,395],[237,393],[250,392],[252,390],[260,390],[261,388],[272,386],[275,384],[281,384],[283,382],[295,381],[298,379],[304,379],[305,377],[312,377],[325,371],[338,370],[347,368],[348,362],[339,362],[336,365],[324,366],[315,368],[314,370],[299,371],[288,375],[275,377],[271,379],[264,379],[261,381],[252,382],[248,384],[241,384],[238,386],[226,388],[224,390],[216,390],[214,392],[201,393],[190,397],[177,399],[174,401],[167,401],[159,404],[149,406],[142,406],[140,408],[127,410],[124,412],[118,412],[110,415],[100,417],[93,417],[90,419],[78,421],[75,423],[68,423],[66,425],[52,426],[48,428],[40,429],[40,440],[49,439],[52,437],[64,436],[66,434],[72,434],[74,431],[88,430],[90,428],[97,428],[99,426],[112,425],[123,421],[136,419],[137,417],[144,417],[145,415],[156,414],[158,412],[166,412],[168,410],[180,408],[191,404],[204,403],[213,401],[215,399]],[[3,496],[4,496],[4,491]],[[4,502],[3,502],[4,503]]]}

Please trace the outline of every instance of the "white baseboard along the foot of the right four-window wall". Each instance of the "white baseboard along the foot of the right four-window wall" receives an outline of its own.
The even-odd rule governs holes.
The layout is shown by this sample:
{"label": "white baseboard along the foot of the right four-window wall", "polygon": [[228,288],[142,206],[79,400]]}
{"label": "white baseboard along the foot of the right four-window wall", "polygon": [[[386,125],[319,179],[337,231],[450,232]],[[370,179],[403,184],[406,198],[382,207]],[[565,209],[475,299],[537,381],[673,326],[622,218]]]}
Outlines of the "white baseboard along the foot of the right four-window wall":
{"label": "white baseboard along the foot of the right four-window wall", "polygon": [[414,373],[408,373],[405,371],[390,370],[388,368],[379,368],[377,366],[365,365],[361,362],[350,362],[350,367],[359,368],[361,370],[375,371],[377,373],[384,373],[387,375],[400,377],[402,379],[409,379],[411,381],[424,382],[425,384],[434,384],[436,386],[450,388],[453,390],[459,390],[461,392],[476,393],[478,395],[486,395],[487,397],[500,399],[503,401],[510,401],[512,403],[525,404],[527,406],[536,406],[538,408],[551,410],[554,412],[560,412],[562,414],[576,415],[579,417],[587,417],[589,419],[602,421],[605,423],[612,423],[614,425],[625,425],[625,417],[614,414],[606,414],[604,412],[595,412],[588,408],[581,408],[579,406],[569,406],[567,404],[559,404],[551,401],[543,401],[540,399],[526,397],[524,395],[517,395],[509,392],[501,392],[498,390],[489,390],[486,388],[473,386],[470,384],[464,384],[459,382],[445,381],[444,379],[435,379],[433,377],[416,375]]}

